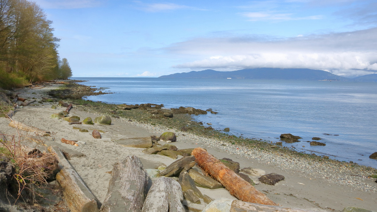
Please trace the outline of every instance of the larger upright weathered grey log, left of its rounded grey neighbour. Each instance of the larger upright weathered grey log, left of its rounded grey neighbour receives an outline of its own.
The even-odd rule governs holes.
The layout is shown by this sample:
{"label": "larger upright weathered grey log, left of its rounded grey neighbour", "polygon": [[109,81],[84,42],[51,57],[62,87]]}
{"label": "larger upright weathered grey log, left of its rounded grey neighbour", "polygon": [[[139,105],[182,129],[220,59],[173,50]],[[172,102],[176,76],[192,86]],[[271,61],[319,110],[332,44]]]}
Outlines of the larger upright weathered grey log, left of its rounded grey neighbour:
{"label": "larger upright weathered grey log, left of its rounded grey neighbour", "polygon": [[140,159],[127,156],[117,162],[100,212],[141,211],[147,195],[149,176]]}

